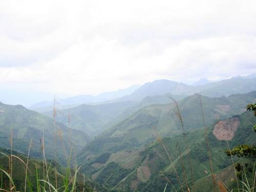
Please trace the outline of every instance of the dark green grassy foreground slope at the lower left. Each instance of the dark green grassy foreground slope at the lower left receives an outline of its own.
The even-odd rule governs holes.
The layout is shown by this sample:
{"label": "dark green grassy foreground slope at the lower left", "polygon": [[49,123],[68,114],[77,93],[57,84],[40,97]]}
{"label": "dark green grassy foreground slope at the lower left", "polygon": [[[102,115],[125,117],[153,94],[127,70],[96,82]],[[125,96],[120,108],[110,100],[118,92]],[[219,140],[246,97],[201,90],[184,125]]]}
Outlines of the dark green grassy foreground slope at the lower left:
{"label": "dark green grassy foreground slope at the lower left", "polygon": [[[9,180],[15,186],[15,191],[24,191],[25,188],[25,165],[17,159],[12,161],[12,177],[9,174],[9,162],[8,156],[10,156],[10,151],[0,148],[0,189],[5,189],[9,191]],[[5,152],[5,153],[3,153]],[[3,155],[4,154],[4,155]],[[26,161],[24,155],[19,154],[15,151],[12,152],[20,159]],[[7,156],[7,157],[6,157]],[[59,167],[56,168],[51,166],[51,163],[47,161],[48,168],[43,162],[30,159],[28,162],[29,171],[27,173],[27,187],[26,191],[84,191],[92,192],[93,188],[96,188],[99,192],[109,191],[108,189],[100,186],[97,183],[89,181],[87,178],[83,178],[79,173],[79,168],[71,167]],[[55,170],[57,172],[57,188],[55,188]],[[62,171],[63,170],[63,171]],[[66,170],[66,171],[65,171]],[[85,180],[84,180],[85,179]],[[84,182],[83,182],[84,180]]]}

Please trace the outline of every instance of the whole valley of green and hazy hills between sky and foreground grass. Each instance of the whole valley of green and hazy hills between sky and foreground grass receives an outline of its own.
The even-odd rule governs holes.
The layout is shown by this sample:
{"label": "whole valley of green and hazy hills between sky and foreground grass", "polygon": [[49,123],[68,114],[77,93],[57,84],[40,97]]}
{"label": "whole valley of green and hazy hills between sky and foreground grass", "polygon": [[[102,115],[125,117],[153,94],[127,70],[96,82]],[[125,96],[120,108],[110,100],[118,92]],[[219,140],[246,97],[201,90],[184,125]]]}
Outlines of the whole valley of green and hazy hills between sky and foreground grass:
{"label": "whole valley of green and hazy hills between sky and foreground grass", "polygon": [[[234,89],[234,82],[243,86]],[[193,89],[160,80],[111,101],[57,107],[55,116],[52,110],[38,113],[0,103],[0,147],[24,161],[29,152],[29,164],[53,163],[51,177],[54,172],[65,175],[67,165],[72,164],[70,171],[79,167],[77,182],[86,178],[88,191],[213,191],[220,181],[235,187],[236,174],[225,150],[255,144],[250,132],[256,118],[245,109],[256,100],[255,85],[253,78],[231,78]],[[13,174],[25,177],[16,170]]]}

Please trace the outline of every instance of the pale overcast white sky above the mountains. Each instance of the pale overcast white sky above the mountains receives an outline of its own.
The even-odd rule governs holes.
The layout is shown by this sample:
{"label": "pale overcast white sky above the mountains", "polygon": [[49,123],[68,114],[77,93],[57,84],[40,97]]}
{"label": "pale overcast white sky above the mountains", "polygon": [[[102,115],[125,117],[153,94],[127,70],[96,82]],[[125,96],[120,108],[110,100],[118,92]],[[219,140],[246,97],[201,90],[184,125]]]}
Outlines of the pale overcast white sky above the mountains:
{"label": "pale overcast white sky above the mountains", "polygon": [[255,73],[255,20],[254,0],[1,1],[0,100]]}

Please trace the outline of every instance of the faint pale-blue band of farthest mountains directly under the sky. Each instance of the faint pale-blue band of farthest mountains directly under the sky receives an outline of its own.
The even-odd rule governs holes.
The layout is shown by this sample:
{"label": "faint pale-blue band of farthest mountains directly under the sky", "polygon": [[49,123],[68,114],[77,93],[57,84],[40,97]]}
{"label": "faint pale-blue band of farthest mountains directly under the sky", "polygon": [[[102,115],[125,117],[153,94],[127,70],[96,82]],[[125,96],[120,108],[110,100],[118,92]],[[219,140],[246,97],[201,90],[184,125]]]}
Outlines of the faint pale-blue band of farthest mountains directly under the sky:
{"label": "faint pale-blue band of farthest mountains directly under the sky", "polygon": [[[78,106],[79,104],[99,104],[102,102],[117,101],[141,101],[146,96],[157,96],[164,94],[172,95],[193,95],[199,93],[209,97],[228,96],[236,93],[246,93],[256,90],[256,75],[238,76],[230,79],[211,82],[207,79],[200,79],[193,85],[188,86],[182,82],[175,82],[166,79],[159,79],[140,85],[134,85],[127,89],[105,92],[97,96],[78,95],[65,99],[58,99],[59,109],[67,109]],[[247,90],[246,90],[247,89]],[[50,111],[53,101],[42,101],[30,106],[29,109],[37,112]]]}

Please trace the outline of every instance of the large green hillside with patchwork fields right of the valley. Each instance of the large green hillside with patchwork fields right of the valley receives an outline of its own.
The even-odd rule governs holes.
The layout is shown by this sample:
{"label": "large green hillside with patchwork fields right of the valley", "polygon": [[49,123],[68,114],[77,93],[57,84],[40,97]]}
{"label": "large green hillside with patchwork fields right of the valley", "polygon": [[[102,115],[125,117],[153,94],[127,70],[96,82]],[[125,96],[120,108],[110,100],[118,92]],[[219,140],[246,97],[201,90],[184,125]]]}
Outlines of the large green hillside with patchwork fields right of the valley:
{"label": "large green hillside with patchwork fields right of the valley", "polygon": [[[202,96],[206,125],[213,127],[222,119],[236,117],[245,111],[244,103],[253,102],[255,97],[256,92],[231,95],[227,98]],[[240,104],[237,103],[238,100]],[[193,176],[196,181],[210,174],[199,95],[186,97],[178,104],[190,148],[191,164],[197,167]],[[239,134],[236,133],[237,137],[232,139],[231,146],[254,141],[254,136],[247,134],[248,130],[251,130],[251,125],[255,123],[253,115],[244,113],[239,116],[239,121],[237,131]],[[185,152],[185,141],[181,135],[181,124],[177,117],[177,108],[174,104],[162,104],[146,106],[135,112],[87,145],[78,157],[83,172],[110,188],[121,187],[124,191],[135,188],[139,189],[138,191],[156,191],[156,187],[159,187],[157,189],[160,190],[165,186],[165,180],[163,175],[156,173],[162,170],[166,172],[165,175],[168,175],[172,167],[169,166],[168,158],[164,155],[163,147],[158,142],[154,143],[155,129],[165,137],[163,141],[172,152],[174,162],[180,162],[176,148],[176,144],[179,143],[181,153],[184,155],[184,164],[189,164],[188,153]],[[209,134],[209,138],[214,170],[218,172],[230,165],[230,160],[224,154],[227,146],[212,134]],[[145,145],[147,147],[141,150]],[[180,164],[177,164],[177,169],[181,174]],[[188,180],[191,181],[192,176],[188,170],[186,170]],[[156,175],[153,176],[154,174]],[[173,178],[174,175],[169,177]],[[156,182],[159,186],[156,186]],[[177,181],[174,183],[177,184]]]}

